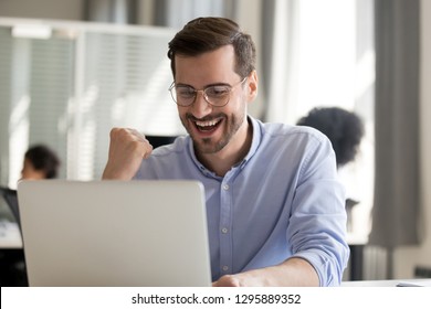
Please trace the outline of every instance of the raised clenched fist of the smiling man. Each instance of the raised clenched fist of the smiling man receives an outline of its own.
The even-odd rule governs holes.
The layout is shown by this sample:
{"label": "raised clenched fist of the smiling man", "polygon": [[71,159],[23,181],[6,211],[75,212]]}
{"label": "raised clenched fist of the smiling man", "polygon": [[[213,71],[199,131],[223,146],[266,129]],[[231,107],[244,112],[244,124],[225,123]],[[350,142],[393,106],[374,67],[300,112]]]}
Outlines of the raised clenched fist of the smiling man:
{"label": "raised clenched fist of the smiling man", "polygon": [[102,179],[130,180],[147,159],[153,146],[135,129],[111,130],[109,154]]}

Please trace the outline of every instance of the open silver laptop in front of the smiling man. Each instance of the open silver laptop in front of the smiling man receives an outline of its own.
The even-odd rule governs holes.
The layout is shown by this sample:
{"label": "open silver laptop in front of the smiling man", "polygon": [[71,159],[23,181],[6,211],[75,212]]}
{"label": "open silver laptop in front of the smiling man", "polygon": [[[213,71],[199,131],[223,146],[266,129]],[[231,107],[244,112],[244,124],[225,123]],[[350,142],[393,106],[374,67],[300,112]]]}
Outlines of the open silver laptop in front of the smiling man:
{"label": "open silver laptop in front of the smiling man", "polygon": [[211,286],[197,181],[21,181],[30,286]]}

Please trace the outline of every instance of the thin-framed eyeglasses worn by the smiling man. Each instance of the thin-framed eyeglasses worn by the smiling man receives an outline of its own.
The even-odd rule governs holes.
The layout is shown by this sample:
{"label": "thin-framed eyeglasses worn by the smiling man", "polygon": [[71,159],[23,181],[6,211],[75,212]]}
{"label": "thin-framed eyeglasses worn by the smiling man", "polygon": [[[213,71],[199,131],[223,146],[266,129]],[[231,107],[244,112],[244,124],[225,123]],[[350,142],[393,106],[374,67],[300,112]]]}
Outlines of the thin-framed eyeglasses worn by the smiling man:
{"label": "thin-framed eyeglasses worn by the smiling man", "polygon": [[202,93],[206,102],[212,106],[223,107],[229,103],[233,88],[243,84],[246,77],[233,86],[230,85],[213,85],[204,89],[195,89],[190,86],[176,86],[175,82],[169,87],[170,95],[176,104],[179,106],[190,106],[195,103],[198,93]]}

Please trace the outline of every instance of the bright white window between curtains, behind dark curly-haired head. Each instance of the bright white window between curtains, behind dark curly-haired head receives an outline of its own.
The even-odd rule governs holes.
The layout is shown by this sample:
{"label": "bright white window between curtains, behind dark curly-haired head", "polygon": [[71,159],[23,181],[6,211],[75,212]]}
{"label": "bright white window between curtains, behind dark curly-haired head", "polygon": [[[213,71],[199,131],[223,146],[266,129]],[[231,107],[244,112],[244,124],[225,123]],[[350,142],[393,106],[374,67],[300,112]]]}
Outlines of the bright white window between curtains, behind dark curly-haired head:
{"label": "bright white window between curtains, behind dark curly-haired head", "polygon": [[[374,203],[374,1],[297,1],[294,86],[287,122],[313,107],[337,106],[357,113],[366,136],[355,162],[339,170],[353,209],[353,235],[367,239]],[[355,241],[354,241],[355,242]]]}

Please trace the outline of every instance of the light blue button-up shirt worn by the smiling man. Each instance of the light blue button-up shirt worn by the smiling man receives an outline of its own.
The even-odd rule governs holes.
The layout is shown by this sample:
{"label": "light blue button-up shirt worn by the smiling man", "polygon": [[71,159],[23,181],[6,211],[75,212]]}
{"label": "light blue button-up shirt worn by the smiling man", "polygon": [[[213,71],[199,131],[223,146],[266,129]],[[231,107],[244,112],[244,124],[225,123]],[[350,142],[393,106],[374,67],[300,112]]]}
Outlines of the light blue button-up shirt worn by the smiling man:
{"label": "light blue button-up shirt worn by the smiling man", "polygon": [[329,140],[308,127],[249,121],[251,149],[224,177],[197,160],[186,136],[155,149],[135,179],[202,182],[213,280],[301,257],[320,286],[338,286],[349,248],[345,191]]}

